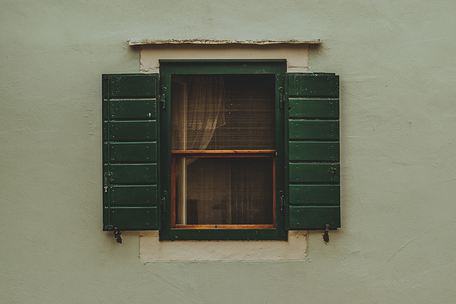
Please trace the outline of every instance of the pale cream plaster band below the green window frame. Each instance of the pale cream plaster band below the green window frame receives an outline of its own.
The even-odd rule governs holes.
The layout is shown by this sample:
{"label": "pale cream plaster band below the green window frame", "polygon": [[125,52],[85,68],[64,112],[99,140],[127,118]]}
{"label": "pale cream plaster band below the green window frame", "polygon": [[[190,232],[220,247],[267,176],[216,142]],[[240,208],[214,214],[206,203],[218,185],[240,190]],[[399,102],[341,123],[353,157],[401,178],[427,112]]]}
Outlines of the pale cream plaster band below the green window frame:
{"label": "pale cream plaster band below the green window frame", "polygon": [[139,257],[144,261],[302,260],[306,231],[288,232],[288,241],[159,241],[158,231],[141,231]]}

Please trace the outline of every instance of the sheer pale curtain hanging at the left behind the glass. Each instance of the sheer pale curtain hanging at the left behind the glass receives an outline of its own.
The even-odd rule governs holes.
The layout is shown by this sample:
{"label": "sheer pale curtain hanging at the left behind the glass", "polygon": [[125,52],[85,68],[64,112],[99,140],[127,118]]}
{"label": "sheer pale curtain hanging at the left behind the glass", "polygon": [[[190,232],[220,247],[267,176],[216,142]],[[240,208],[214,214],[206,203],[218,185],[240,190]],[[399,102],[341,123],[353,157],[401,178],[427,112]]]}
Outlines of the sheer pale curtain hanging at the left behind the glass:
{"label": "sheer pale curtain hanging at the left behind the glass", "polygon": [[[204,150],[211,142],[215,129],[225,124],[223,77],[221,75],[173,75],[171,81],[171,148]],[[188,224],[189,208],[193,212],[198,212],[198,206],[194,208],[192,204],[199,204],[199,200],[188,199],[187,182],[188,166],[197,160],[197,158],[176,160],[176,222],[179,224]],[[198,215],[193,214],[193,218],[198,218]]]}

